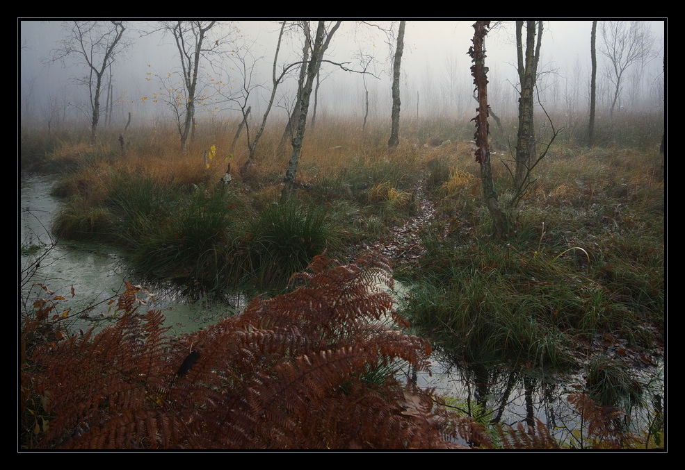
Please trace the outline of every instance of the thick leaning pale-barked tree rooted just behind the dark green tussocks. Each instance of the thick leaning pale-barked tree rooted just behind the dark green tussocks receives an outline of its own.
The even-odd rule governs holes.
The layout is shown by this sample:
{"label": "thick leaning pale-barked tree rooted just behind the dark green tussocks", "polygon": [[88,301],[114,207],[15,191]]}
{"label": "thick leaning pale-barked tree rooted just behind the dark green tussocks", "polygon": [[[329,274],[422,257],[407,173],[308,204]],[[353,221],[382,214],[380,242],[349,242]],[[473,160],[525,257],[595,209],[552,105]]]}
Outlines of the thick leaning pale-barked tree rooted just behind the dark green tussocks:
{"label": "thick leaning pale-barked tree rooted just behind the dark green tussocks", "polygon": [[[335,34],[335,31],[340,27],[341,22],[335,22],[328,31],[326,31],[325,22],[320,21],[316,28],[316,35],[312,41],[312,35],[309,31],[309,26],[305,28],[305,44],[313,44],[312,51],[309,55],[309,61],[307,62],[305,82],[303,83],[302,90],[298,91],[300,96],[300,115],[298,119],[298,126],[296,130],[296,135],[293,137],[293,153],[291,154],[290,161],[288,163],[288,169],[283,179],[285,186],[282,192],[282,199],[287,199],[295,183],[295,175],[298,170],[298,165],[300,162],[300,152],[302,151],[302,142],[305,137],[305,127],[307,126],[307,111],[309,110],[309,96],[312,94],[312,88],[314,86],[314,78],[319,74],[319,69],[321,68],[321,61],[323,60],[323,54],[330,40]],[[303,65],[304,67],[304,65]]]}

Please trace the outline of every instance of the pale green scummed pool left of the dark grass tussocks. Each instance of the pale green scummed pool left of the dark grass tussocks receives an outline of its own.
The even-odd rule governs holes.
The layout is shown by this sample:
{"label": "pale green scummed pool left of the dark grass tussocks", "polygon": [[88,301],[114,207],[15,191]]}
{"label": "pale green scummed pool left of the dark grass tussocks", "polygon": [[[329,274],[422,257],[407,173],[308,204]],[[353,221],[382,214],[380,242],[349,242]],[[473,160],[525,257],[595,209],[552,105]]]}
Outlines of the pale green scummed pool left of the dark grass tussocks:
{"label": "pale green scummed pool left of the dark grass tussocks", "polygon": [[[115,319],[116,300],[126,289],[126,282],[143,283],[127,267],[125,254],[111,246],[74,244],[56,240],[50,233],[51,220],[60,207],[59,199],[50,196],[54,176],[27,176],[20,182],[19,248],[22,306],[38,297],[45,289],[62,296],[59,313],[70,309],[70,328],[85,330],[106,326]],[[36,262],[40,257],[40,265]],[[72,296],[72,288],[74,295]],[[172,331],[188,333],[244,308],[244,296],[209,299],[186,296],[177,287],[156,283],[153,294],[140,295],[147,301],[144,309],[161,309],[166,325]]]}

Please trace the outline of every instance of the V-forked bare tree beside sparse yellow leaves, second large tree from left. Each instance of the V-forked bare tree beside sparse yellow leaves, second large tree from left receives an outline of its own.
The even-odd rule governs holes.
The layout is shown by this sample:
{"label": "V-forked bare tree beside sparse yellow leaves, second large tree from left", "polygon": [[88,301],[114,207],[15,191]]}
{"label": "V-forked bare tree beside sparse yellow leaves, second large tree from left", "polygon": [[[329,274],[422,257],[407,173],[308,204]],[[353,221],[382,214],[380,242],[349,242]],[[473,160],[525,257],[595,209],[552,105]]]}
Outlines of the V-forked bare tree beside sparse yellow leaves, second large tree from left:
{"label": "V-forked bare tree beside sparse yellow leaves, second large tree from left", "polygon": [[[182,103],[184,112],[177,113],[177,117],[184,152],[188,151],[188,139],[193,140],[198,96],[203,91],[198,77],[201,60],[211,62],[211,56],[220,53],[227,43],[229,33],[220,32],[219,25],[216,21],[162,22],[162,29],[174,38],[181,61],[185,102]],[[217,34],[211,35],[213,32]]]}

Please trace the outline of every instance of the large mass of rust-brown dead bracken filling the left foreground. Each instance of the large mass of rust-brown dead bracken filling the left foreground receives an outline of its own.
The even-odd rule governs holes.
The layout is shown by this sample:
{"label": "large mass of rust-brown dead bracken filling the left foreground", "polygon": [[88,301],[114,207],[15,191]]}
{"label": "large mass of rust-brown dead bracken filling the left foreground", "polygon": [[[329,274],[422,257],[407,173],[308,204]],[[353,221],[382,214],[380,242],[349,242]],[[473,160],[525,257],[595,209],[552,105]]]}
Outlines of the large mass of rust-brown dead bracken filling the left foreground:
{"label": "large mass of rust-brown dead bracken filling the left foreground", "polygon": [[[174,339],[131,299],[117,324],[36,346],[22,385],[45,417],[40,448],[456,448],[430,391],[370,372],[428,367],[403,333],[387,260],[324,255],[289,294]],[[38,409],[40,408],[40,409]]]}

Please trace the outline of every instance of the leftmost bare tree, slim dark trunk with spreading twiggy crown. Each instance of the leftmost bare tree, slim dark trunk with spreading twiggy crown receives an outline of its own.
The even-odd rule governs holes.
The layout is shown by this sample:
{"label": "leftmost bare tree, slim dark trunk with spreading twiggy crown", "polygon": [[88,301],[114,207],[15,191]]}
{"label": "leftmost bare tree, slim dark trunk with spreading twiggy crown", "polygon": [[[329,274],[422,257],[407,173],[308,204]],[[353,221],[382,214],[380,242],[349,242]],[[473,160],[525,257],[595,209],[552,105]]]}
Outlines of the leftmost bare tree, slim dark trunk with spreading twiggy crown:
{"label": "leftmost bare tree, slim dark trunk with spreading twiggy crown", "polygon": [[104,74],[111,69],[115,57],[127,43],[122,40],[126,26],[124,22],[64,22],[64,39],[52,53],[51,61],[65,62],[74,56],[86,66],[87,74],[81,83],[88,86],[90,96],[90,141],[95,142],[100,117],[100,94]]}

